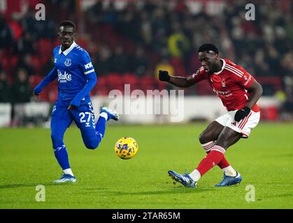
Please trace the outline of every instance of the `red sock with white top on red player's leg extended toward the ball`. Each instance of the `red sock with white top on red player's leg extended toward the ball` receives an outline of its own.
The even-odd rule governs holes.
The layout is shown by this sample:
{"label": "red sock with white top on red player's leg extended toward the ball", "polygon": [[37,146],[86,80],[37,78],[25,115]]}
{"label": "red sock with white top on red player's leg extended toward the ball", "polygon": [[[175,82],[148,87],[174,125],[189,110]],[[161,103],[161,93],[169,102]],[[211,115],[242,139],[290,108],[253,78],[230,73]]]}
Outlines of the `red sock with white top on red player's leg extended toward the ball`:
{"label": "red sock with white top on red player's leg extended toward the ball", "polygon": [[221,146],[213,146],[210,153],[208,153],[208,155],[201,160],[199,166],[196,167],[201,176],[217,165],[224,158],[224,153],[225,150]]}

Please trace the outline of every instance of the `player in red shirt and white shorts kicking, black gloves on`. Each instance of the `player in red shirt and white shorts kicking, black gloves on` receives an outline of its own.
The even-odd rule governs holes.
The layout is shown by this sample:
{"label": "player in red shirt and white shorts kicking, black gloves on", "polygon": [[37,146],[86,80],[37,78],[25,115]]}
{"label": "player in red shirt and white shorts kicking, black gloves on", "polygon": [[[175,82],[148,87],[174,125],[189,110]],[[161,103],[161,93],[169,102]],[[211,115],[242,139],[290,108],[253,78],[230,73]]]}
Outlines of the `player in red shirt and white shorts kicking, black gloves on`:
{"label": "player in red shirt and white shorts kicking, black gloves on", "polygon": [[208,153],[190,174],[168,171],[169,176],[185,187],[195,187],[199,178],[215,165],[224,171],[223,180],[215,185],[224,187],[240,183],[241,175],[224,157],[229,146],[241,138],[248,138],[259,123],[260,112],[257,100],[262,95],[262,86],[241,66],[228,59],[221,59],[219,50],[211,43],[199,47],[201,68],[189,77],[171,76],[159,70],[159,79],[178,87],[189,87],[206,79],[213,91],[222,100],[227,113],[215,119],[199,135],[203,150]]}

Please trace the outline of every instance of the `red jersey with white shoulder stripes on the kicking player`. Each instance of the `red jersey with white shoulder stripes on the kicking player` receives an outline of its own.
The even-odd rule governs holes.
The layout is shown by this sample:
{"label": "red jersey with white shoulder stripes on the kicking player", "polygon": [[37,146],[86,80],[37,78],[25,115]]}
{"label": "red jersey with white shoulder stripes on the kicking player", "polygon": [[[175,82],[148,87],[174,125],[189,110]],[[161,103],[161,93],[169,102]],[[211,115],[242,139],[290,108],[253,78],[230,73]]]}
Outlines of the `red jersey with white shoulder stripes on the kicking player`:
{"label": "red jersey with white shoulder stripes on the kicking player", "polygon": [[[242,109],[248,102],[250,88],[255,79],[241,66],[228,59],[222,59],[223,66],[219,72],[208,75],[203,67],[192,75],[192,80],[197,83],[207,79],[217,96],[222,100],[228,111]],[[259,112],[257,105],[252,111]]]}

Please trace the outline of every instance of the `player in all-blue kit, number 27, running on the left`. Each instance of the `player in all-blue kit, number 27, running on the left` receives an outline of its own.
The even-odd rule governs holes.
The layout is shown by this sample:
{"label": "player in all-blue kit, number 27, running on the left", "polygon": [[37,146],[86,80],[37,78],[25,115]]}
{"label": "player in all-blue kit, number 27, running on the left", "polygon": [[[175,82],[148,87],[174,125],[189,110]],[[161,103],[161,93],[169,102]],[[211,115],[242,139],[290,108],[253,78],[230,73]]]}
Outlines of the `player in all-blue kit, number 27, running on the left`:
{"label": "player in all-blue kit, number 27, running on the left", "polygon": [[51,138],[55,157],[62,167],[62,177],[54,183],[76,182],[69,156],[63,142],[64,132],[74,121],[80,129],[87,148],[95,149],[103,139],[106,122],[117,121],[119,115],[108,107],[100,107],[99,119],[94,123],[94,109],[90,91],[97,83],[97,75],[89,54],[76,44],[76,25],[71,21],[59,24],[61,45],[53,49],[54,68],[34,89],[36,98],[46,85],[57,79],[58,98],[52,109]]}

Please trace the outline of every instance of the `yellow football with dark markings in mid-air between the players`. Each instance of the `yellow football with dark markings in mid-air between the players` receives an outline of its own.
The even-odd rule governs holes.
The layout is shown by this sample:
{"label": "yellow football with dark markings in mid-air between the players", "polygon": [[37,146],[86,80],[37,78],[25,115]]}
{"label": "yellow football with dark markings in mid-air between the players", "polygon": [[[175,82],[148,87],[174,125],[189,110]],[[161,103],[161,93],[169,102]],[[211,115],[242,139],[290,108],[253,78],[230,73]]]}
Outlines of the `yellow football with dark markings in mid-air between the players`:
{"label": "yellow football with dark markings in mid-air between the players", "polygon": [[138,151],[138,144],[135,139],[131,137],[120,138],[114,148],[115,154],[123,160],[129,160]]}

